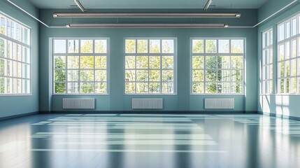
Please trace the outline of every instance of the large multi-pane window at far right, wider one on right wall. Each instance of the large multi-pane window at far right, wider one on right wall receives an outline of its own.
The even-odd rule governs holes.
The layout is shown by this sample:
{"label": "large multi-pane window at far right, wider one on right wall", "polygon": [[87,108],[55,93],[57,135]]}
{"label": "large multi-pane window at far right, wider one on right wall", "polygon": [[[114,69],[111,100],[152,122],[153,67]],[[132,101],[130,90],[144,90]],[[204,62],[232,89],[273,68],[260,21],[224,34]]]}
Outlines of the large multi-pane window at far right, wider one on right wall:
{"label": "large multi-pane window at far right, wider one on right wall", "polygon": [[278,25],[278,93],[300,93],[300,15]]}

